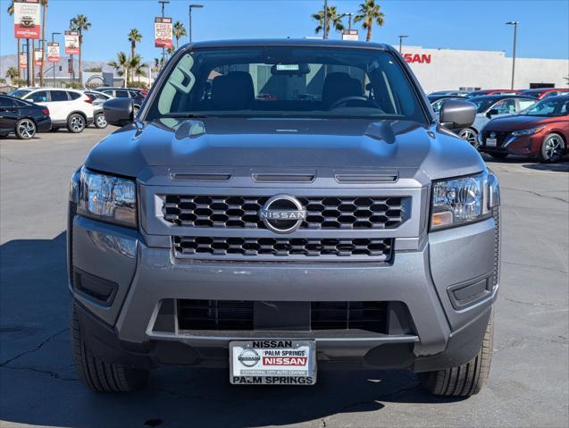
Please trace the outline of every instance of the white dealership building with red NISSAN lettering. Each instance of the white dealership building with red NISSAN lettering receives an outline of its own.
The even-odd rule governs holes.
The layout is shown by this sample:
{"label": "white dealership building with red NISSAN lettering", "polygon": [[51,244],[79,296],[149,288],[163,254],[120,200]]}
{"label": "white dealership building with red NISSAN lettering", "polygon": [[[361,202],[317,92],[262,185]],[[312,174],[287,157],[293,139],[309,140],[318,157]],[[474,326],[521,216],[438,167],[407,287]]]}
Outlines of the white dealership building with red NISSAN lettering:
{"label": "white dealership building with red NISSAN lettering", "polygon": [[[512,57],[504,52],[403,46],[401,53],[426,93],[443,89],[507,89],[512,83]],[[515,89],[567,88],[566,77],[569,59],[515,59]]]}

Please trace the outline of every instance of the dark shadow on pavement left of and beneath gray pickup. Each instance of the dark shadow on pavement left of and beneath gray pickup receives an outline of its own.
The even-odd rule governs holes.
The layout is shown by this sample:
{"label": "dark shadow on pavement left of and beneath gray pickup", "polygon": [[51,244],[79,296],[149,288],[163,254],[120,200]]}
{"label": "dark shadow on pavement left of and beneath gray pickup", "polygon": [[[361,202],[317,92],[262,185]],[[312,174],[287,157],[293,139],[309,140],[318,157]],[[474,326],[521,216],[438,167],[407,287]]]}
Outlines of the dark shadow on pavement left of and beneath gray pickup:
{"label": "dark shadow on pavement left of and beneath gray pickup", "polygon": [[163,367],[146,390],[97,394],[77,380],[71,363],[65,232],[7,242],[0,257],[0,418],[8,423],[228,427],[315,420],[324,426],[333,415],[391,402],[449,402],[424,393],[416,376],[401,370],[322,371],[315,386],[303,388],[231,386],[226,370]]}

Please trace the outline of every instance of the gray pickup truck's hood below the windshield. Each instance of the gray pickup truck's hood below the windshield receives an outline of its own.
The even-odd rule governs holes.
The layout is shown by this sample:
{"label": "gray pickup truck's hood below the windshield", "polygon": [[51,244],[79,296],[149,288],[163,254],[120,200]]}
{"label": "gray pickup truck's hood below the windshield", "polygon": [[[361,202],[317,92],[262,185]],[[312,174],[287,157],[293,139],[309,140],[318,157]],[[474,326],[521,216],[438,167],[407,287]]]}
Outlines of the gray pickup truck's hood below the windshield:
{"label": "gray pickup truck's hood below the windshield", "polygon": [[364,119],[135,122],[93,147],[85,164],[128,177],[155,166],[389,168],[431,180],[484,169],[473,147],[439,125]]}

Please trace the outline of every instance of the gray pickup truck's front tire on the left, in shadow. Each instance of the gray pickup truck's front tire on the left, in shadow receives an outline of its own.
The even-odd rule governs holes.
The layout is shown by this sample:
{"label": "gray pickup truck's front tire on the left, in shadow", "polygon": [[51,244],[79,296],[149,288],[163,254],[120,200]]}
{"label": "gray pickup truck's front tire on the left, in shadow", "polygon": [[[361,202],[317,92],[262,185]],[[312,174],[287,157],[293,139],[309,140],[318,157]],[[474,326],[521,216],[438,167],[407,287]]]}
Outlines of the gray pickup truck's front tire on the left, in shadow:
{"label": "gray pickup truck's front tire on the left, in shadow", "polygon": [[86,347],[75,306],[71,304],[71,353],[79,380],[97,392],[127,392],[146,385],[148,371],[105,363]]}

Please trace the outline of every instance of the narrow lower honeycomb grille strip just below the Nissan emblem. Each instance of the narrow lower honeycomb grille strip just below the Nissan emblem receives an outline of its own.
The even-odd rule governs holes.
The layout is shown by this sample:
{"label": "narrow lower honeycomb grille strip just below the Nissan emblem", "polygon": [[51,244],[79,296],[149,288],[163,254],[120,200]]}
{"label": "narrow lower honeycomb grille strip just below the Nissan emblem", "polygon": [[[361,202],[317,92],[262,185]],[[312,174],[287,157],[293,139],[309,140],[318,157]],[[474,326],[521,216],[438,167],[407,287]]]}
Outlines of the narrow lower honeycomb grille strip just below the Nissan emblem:
{"label": "narrow lower honeycomb grille strip just below the Nissan emblem", "polygon": [[389,261],[393,239],[223,238],[174,236],[176,256],[258,257],[373,257]]}

